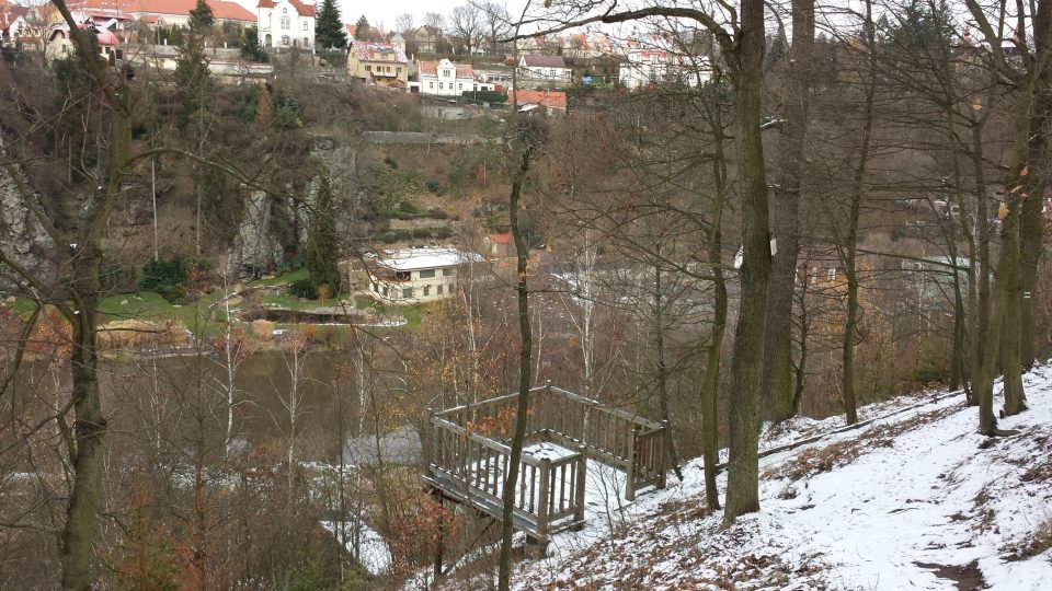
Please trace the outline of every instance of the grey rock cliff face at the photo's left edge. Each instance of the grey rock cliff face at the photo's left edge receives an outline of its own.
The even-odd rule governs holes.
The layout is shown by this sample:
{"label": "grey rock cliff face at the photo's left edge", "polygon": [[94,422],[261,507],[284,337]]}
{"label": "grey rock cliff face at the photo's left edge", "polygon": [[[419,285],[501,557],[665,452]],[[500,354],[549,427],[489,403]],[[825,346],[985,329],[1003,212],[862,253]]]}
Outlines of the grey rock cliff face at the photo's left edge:
{"label": "grey rock cliff face at the photo's left edge", "polygon": [[[2,146],[0,158],[8,158]],[[16,166],[13,169],[20,175],[22,185],[30,187],[25,177],[21,176],[21,171]],[[35,195],[32,197],[36,198]],[[0,166],[0,251],[39,277],[50,274],[55,268],[50,257],[54,252],[50,236],[25,207],[18,183],[5,166]],[[0,278],[0,281],[3,279]]]}

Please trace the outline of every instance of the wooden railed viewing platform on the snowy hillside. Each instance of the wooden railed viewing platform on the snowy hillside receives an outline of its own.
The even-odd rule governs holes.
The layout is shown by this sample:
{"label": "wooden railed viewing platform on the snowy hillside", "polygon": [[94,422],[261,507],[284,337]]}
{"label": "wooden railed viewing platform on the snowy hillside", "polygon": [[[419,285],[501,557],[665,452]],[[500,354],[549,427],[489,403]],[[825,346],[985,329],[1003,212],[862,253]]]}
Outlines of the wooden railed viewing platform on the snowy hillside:
{"label": "wooden railed viewing platform on the snowy hillside", "polygon": [[[518,394],[432,415],[434,447],[424,482],[496,520],[511,459]],[[625,498],[665,487],[666,426],[550,383],[529,391],[526,445],[515,483],[514,528],[541,547],[584,522],[587,460],[625,472]]]}

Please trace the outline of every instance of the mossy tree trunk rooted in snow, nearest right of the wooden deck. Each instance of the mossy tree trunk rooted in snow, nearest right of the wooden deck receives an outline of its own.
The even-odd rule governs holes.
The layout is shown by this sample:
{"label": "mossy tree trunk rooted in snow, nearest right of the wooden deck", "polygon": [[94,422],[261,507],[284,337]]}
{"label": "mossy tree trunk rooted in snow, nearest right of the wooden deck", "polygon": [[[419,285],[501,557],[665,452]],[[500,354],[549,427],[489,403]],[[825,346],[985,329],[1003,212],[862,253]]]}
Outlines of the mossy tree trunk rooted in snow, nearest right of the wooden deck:
{"label": "mossy tree trunk rooted in snow, nearest right of the wooden deck", "polygon": [[761,132],[764,59],[764,2],[743,0],[739,54],[734,61],[734,109],[739,128],[742,179],[742,297],[731,361],[730,463],[724,523],[759,510],[759,425],[756,421],[763,362],[767,287],[770,280],[767,178]]}

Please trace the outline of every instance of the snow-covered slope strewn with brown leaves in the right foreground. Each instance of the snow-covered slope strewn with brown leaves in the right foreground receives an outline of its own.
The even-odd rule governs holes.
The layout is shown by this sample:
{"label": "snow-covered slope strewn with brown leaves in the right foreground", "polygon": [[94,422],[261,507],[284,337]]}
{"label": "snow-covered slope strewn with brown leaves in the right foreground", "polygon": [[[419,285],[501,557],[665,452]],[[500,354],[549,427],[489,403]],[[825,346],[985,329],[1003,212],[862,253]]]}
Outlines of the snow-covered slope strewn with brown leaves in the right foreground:
{"label": "snow-covered slope strewn with brown leaves in the right foreground", "polygon": [[547,558],[517,567],[516,587],[1052,589],[1052,367],[1025,381],[1030,410],[999,425],[1015,436],[977,434],[963,396],[908,408],[913,398],[765,457],[762,512],[729,529],[705,512],[701,464],[690,463],[683,483],[670,478],[616,520],[556,536]]}

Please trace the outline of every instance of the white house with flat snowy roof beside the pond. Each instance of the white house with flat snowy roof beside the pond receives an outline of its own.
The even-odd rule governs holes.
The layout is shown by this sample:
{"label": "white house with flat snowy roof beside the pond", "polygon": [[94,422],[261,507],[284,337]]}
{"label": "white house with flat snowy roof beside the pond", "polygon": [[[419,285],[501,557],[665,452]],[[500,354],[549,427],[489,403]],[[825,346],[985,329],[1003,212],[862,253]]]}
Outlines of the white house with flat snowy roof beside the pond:
{"label": "white house with flat snowy roof beside the pond", "polygon": [[432,302],[456,294],[460,267],[482,263],[477,253],[457,248],[405,248],[387,252],[368,268],[369,293],[397,303]]}

